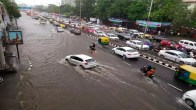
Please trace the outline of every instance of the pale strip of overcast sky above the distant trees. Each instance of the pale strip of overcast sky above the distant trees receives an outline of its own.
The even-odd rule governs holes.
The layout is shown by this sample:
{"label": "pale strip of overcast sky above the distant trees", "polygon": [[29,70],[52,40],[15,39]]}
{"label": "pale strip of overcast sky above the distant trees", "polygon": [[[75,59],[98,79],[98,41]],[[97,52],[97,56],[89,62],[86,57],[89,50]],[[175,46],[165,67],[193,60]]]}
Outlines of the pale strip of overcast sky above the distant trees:
{"label": "pale strip of overcast sky above the distant trees", "polygon": [[15,0],[18,4],[27,4],[27,5],[48,5],[56,4],[59,5],[61,0]]}

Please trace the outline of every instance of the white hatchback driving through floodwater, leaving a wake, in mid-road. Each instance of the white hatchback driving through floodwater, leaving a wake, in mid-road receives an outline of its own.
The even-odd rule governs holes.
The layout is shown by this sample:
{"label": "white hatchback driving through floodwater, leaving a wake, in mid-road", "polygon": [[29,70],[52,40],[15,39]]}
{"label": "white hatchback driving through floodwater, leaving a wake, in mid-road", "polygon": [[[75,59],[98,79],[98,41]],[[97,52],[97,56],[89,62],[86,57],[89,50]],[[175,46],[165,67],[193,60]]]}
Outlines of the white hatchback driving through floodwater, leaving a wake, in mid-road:
{"label": "white hatchback driving through floodwater, leaving a wake, in mid-road", "polygon": [[65,57],[65,60],[71,64],[82,66],[83,68],[93,68],[97,66],[95,59],[84,54],[69,55]]}

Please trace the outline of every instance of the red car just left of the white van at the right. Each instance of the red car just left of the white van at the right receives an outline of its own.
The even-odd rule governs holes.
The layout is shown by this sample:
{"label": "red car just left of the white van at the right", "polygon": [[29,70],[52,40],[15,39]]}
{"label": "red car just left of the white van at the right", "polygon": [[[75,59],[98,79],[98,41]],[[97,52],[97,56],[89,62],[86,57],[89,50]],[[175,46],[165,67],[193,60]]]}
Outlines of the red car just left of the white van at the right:
{"label": "red car just left of the white van at the right", "polygon": [[164,39],[160,43],[161,43],[161,45],[163,47],[170,47],[172,49],[180,49],[180,48],[183,48],[182,45],[180,45],[178,42],[173,41],[173,40],[169,40],[169,39]]}

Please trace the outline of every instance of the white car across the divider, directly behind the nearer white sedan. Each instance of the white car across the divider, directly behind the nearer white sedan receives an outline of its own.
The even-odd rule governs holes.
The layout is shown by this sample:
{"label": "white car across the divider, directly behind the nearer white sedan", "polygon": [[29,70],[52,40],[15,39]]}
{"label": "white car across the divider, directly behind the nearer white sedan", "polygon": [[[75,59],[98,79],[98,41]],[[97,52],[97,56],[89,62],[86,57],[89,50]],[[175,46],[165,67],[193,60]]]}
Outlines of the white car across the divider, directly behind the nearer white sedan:
{"label": "white car across the divider, directly behind the nearer white sedan", "polygon": [[[139,41],[139,40],[128,40],[126,44],[130,47],[133,47],[139,50],[149,50],[149,46],[145,45],[144,43],[142,43],[142,41]],[[143,47],[142,47],[142,44],[143,44]]]}

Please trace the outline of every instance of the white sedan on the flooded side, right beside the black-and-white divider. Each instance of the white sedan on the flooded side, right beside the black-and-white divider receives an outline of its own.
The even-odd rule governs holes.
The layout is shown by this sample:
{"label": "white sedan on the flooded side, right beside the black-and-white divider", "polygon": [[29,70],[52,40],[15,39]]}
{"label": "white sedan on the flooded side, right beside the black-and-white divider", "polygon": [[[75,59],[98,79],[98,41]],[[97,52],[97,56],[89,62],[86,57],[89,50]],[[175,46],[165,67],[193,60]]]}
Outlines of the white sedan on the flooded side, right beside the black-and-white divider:
{"label": "white sedan on the flooded side, right beside the black-and-white divider", "polygon": [[113,53],[123,56],[126,58],[138,58],[140,56],[139,52],[131,47],[116,47],[112,49]]}

